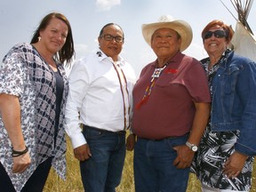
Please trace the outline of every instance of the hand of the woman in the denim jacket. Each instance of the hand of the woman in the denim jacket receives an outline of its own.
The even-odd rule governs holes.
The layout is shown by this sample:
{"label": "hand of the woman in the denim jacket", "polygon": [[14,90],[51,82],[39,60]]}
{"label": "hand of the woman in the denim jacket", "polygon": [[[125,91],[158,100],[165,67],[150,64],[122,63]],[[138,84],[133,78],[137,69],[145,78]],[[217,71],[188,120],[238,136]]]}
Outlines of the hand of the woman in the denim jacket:
{"label": "hand of the woman in the denim jacket", "polygon": [[229,156],[227,162],[224,165],[224,173],[228,178],[237,177],[244,167],[244,163],[248,156],[241,154],[239,152],[234,152]]}

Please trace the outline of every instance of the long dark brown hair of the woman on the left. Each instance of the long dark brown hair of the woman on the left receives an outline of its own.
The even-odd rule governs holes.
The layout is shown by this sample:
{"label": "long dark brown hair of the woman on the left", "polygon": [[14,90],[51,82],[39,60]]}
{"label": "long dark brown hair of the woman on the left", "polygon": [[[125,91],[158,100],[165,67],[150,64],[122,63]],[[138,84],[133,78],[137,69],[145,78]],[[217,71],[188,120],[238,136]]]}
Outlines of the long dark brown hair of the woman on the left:
{"label": "long dark brown hair of the woman on the left", "polygon": [[36,28],[36,31],[34,32],[34,35],[31,39],[30,44],[35,44],[38,41],[38,37],[40,36],[40,31],[46,28],[53,18],[62,20],[68,26],[68,36],[67,36],[66,42],[63,45],[63,47],[60,49],[60,51],[57,52],[57,54],[55,55],[56,56],[55,59],[59,60],[61,64],[67,61],[66,65],[68,66],[68,64],[72,60],[73,55],[75,54],[75,49],[74,49],[74,41],[73,41],[71,26],[65,15],[59,12],[51,12],[47,14],[44,17],[44,19],[41,21],[38,28]]}

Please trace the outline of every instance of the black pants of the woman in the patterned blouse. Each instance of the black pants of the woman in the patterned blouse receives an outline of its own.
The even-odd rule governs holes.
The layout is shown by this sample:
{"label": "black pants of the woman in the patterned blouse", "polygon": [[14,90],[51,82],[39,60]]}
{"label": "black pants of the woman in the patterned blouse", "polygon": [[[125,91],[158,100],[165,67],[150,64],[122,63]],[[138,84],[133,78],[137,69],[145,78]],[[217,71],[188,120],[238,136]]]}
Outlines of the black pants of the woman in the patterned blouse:
{"label": "black pants of the woman in the patterned blouse", "polygon": [[[36,171],[30,176],[21,192],[42,192],[44,184],[52,166],[52,157],[46,159],[42,164],[39,164]],[[16,192],[13,188],[7,172],[5,172],[3,164],[0,163],[0,191]]]}

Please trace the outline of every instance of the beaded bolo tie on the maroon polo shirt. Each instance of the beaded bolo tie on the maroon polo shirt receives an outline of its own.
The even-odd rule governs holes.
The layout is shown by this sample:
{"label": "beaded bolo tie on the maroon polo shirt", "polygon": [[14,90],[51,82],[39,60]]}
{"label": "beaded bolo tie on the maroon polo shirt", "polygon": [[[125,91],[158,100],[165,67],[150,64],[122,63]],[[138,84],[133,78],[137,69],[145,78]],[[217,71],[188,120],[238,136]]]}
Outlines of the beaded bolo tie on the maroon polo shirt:
{"label": "beaded bolo tie on the maroon polo shirt", "polygon": [[140,102],[135,107],[136,109],[139,109],[141,107],[141,105],[148,100],[148,98],[149,98],[149,96],[150,96],[150,94],[152,92],[152,89],[153,89],[154,85],[156,84],[157,78],[162,74],[164,68],[166,68],[166,66],[168,64],[169,64],[169,62],[167,62],[164,65],[163,68],[155,68],[154,73],[151,76],[151,80],[150,80],[150,82],[149,82],[149,84],[148,84],[148,86],[147,86],[147,88],[146,88],[146,90],[144,92],[142,100],[140,100]]}

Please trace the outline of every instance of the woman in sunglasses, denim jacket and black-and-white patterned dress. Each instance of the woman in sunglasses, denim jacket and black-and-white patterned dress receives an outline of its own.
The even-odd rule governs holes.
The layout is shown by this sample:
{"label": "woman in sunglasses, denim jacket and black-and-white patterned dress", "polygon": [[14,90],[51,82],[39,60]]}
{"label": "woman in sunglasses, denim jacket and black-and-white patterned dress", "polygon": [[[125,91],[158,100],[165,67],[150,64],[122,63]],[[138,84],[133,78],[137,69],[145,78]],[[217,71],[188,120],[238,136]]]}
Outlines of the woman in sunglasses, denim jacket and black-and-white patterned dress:
{"label": "woman in sunglasses, denim jacket and black-and-white patterned dress", "polygon": [[212,20],[203,30],[201,60],[208,76],[212,112],[191,167],[208,191],[250,191],[256,155],[256,65],[227,47],[233,30]]}

